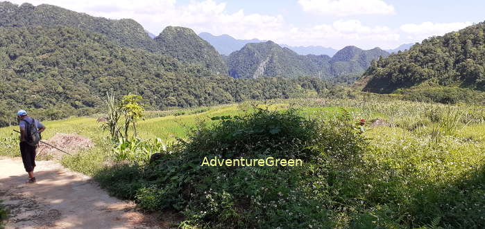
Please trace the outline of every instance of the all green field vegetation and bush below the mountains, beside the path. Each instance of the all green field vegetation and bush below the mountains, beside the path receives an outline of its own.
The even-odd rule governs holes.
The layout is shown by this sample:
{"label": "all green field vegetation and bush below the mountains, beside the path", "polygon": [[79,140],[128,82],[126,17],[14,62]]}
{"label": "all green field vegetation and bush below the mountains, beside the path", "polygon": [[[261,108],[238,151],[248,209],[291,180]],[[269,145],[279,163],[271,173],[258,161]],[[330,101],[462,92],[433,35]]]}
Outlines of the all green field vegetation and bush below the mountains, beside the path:
{"label": "all green field vegetation and bush below the mountains, beside the path", "polygon": [[[121,144],[96,118],[70,118],[47,122],[46,138],[91,138],[61,163],[143,210],[178,212],[182,228],[484,228],[484,107],[384,96],[149,111]],[[205,156],[304,166],[201,167]]]}

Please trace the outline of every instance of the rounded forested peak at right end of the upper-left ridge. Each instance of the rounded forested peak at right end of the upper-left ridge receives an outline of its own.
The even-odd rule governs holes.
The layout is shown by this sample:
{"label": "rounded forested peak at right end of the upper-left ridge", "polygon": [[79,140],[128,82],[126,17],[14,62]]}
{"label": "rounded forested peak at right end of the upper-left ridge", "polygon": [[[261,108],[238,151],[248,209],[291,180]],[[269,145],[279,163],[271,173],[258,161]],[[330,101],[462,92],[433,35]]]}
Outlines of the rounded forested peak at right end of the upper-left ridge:
{"label": "rounded forested peak at right end of the upper-left ridge", "polygon": [[194,30],[184,27],[167,26],[155,42],[164,55],[183,63],[201,64],[210,71],[226,75],[228,68],[221,55],[209,42],[198,37]]}

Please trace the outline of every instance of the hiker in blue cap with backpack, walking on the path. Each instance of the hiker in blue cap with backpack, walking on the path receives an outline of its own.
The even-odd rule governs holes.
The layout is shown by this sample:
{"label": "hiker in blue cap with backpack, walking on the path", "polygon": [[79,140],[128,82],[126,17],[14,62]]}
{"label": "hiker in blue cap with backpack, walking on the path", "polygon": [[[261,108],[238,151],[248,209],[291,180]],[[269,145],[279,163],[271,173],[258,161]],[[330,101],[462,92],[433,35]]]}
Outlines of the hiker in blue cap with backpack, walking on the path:
{"label": "hiker in blue cap with backpack, walking on the path", "polygon": [[20,154],[25,171],[28,173],[27,183],[35,183],[35,149],[40,140],[40,133],[46,129],[39,120],[35,120],[27,115],[27,111],[17,112],[20,127]]}

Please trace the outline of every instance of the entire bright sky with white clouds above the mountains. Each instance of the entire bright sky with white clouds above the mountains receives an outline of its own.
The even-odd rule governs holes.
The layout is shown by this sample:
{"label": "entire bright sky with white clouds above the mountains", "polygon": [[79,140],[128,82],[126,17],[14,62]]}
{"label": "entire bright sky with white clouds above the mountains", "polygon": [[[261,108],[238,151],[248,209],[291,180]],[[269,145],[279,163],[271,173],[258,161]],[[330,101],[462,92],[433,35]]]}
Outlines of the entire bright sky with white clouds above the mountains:
{"label": "entire bright sky with white clouds above the mountains", "polygon": [[130,18],[158,35],[166,26],[236,39],[335,49],[396,48],[485,21],[483,0],[30,0],[96,17]]}

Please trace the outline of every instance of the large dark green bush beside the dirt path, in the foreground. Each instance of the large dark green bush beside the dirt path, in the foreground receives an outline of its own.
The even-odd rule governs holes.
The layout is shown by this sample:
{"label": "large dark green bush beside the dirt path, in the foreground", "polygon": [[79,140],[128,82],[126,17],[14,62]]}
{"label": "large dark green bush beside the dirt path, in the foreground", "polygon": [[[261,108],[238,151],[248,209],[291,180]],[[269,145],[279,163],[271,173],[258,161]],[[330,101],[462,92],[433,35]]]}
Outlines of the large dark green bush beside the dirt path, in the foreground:
{"label": "large dark green bush beside the dirt path, in the foreground", "polygon": [[[259,109],[244,117],[217,117],[174,145],[157,163],[116,167],[96,176],[112,194],[146,210],[175,209],[183,225],[210,228],[325,228],[343,203],[366,147],[348,116],[307,120],[296,111]],[[296,167],[207,167],[203,159],[298,158]],[[332,191],[334,190],[334,191]]]}

